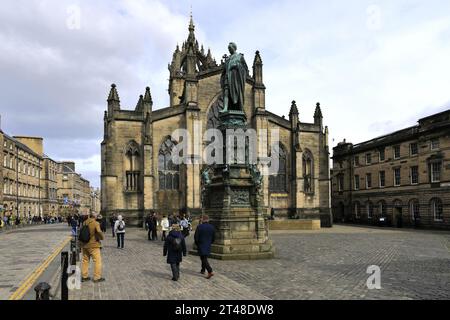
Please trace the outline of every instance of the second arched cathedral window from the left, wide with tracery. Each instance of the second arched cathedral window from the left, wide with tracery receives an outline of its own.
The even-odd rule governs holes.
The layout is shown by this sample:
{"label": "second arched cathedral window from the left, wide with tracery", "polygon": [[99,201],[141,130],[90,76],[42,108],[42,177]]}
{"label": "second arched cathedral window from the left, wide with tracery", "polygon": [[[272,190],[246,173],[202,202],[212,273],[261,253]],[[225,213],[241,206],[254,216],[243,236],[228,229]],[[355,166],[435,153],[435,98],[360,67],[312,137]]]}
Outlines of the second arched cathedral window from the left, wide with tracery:
{"label": "second arched cathedral window from the left, wide with tracery", "polygon": [[178,190],[180,185],[180,167],[172,161],[172,149],[175,146],[170,137],[163,141],[158,153],[158,176],[160,190]]}

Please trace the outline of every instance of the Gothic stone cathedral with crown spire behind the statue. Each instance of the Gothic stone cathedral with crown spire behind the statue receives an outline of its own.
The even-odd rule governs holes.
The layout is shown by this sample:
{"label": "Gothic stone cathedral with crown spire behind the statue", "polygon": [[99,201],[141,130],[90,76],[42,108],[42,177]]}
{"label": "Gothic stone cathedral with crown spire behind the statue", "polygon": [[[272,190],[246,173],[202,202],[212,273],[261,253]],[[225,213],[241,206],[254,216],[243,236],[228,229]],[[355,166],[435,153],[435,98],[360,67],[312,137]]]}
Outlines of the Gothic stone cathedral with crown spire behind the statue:
{"label": "Gothic stone cathedral with crown spire behind the statue", "polygon": [[[111,86],[101,143],[101,202],[107,216],[120,213],[136,224],[151,210],[193,216],[202,211],[205,165],[194,155],[187,155],[192,164],[174,164],[170,154],[180,141],[172,134],[183,128],[194,137],[196,123],[203,131],[217,126],[223,61],[217,63],[210,50],[199,46],[192,18],[188,30],[169,64],[168,107],[153,110],[147,87],[134,110],[123,109],[117,87]],[[278,129],[280,140],[278,172],[263,178],[264,211],[269,215],[273,208],[275,217],[320,218],[322,227],[331,226],[328,128],[319,103],[311,123],[301,121],[295,101],[289,119],[269,112],[258,51],[252,69],[245,84],[247,119],[256,131]],[[271,143],[268,138],[267,150]]]}

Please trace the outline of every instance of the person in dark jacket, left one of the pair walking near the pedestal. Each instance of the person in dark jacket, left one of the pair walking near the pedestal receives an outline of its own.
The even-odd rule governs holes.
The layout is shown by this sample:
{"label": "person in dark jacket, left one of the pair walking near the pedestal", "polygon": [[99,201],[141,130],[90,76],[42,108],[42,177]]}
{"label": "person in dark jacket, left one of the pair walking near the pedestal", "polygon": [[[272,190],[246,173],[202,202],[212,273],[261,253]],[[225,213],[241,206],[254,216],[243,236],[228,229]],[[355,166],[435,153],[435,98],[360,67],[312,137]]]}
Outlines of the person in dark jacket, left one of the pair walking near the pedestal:
{"label": "person in dark jacket, left one of the pair walking near the pedestal", "polygon": [[180,232],[180,225],[172,225],[172,230],[164,242],[163,256],[167,256],[167,263],[172,269],[172,280],[178,281],[180,279],[180,263],[183,256],[186,256],[186,242]]}

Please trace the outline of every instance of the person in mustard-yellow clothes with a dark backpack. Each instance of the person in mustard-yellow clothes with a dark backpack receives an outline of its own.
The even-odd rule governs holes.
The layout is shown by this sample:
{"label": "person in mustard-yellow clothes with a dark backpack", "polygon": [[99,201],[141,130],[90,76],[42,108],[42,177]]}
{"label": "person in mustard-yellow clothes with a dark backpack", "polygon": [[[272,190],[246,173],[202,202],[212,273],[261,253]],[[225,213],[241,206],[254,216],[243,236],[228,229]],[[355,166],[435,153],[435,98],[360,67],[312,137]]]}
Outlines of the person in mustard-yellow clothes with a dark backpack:
{"label": "person in mustard-yellow clothes with a dark backpack", "polygon": [[81,262],[81,281],[91,280],[89,277],[89,262],[92,258],[94,262],[94,282],[105,281],[102,277],[102,256],[100,249],[102,247],[101,240],[104,239],[102,230],[100,229],[100,224],[96,221],[96,214],[91,214],[84,222],[83,226],[89,228],[89,242],[81,242],[81,250],[83,254],[83,259]]}

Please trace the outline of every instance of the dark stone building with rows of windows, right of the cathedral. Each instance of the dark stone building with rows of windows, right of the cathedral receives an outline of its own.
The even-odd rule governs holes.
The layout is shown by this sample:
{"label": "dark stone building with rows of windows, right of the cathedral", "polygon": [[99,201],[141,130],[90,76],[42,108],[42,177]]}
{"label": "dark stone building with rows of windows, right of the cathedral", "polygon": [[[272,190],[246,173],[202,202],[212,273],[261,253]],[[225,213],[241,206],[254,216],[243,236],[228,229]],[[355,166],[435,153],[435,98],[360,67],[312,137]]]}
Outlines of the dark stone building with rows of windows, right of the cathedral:
{"label": "dark stone building with rows of windows, right of the cathedral", "polygon": [[450,229],[450,110],[359,144],[339,143],[332,208],[339,222]]}

